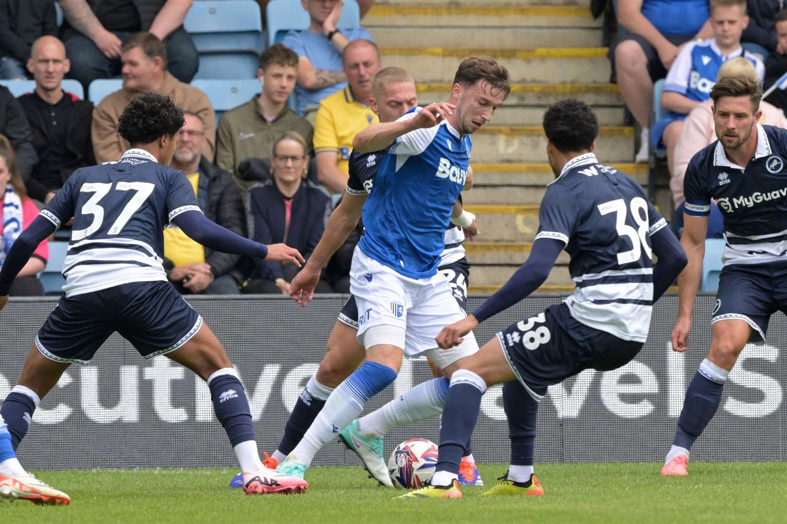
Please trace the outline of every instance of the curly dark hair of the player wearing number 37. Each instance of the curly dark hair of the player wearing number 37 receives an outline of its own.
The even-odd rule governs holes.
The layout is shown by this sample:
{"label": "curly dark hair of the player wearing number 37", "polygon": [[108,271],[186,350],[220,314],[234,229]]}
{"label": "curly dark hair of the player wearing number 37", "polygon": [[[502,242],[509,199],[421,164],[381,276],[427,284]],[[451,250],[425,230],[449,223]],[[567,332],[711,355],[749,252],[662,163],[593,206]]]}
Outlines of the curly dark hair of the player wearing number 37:
{"label": "curly dark hair of the player wearing number 37", "polygon": [[131,144],[150,144],[157,138],[174,137],[186,123],[183,111],[172,98],[157,93],[140,94],[120,113],[117,129],[120,136]]}

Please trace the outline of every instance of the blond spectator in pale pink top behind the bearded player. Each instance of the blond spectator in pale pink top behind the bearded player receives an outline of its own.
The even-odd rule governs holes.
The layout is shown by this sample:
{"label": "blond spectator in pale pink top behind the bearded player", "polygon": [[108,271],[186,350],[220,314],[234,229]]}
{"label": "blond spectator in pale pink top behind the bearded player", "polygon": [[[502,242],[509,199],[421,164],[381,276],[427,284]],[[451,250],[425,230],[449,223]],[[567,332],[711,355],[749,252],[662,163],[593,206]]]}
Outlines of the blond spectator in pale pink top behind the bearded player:
{"label": "blond spectator in pale pink top behind the bearded player", "polygon": [[[727,60],[719,69],[719,80],[729,77],[745,75],[752,80],[759,80],[757,70],[751,60],[743,57]],[[763,113],[759,117],[759,123],[768,126],[787,128],[787,118],[781,109],[762,101],[759,110]],[[683,177],[689,161],[706,145],[711,145],[716,141],[715,126],[713,122],[713,101],[706,100],[697,104],[689,112],[683,123],[683,130],[675,145],[674,157],[672,159],[672,176],[670,178],[670,190],[672,201],[676,207],[676,218],[678,228],[683,226],[683,209],[685,199],[683,196]],[[715,203],[711,203],[711,221],[708,224],[708,238],[722,238],[724,233],[724,223],[721,211]]]}

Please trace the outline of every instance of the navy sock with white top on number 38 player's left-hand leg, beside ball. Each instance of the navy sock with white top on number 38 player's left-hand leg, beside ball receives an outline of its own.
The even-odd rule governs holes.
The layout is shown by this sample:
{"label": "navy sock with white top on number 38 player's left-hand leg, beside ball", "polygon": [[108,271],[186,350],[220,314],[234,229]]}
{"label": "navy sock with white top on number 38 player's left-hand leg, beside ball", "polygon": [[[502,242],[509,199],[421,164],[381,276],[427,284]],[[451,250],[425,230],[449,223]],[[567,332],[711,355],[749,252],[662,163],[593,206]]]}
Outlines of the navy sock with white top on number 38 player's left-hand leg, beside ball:
{"label": "navy sock with white top on number 38 player's left-hand leg, beside ball", "polygon": [[[486,383],[474,372],[459,369],[453,373],[443,408],[435,475],[440,471],[459,475],[459,464],[478,420],[481,397],[485,391]],[[441,478],[442,475],[438,475],[437,486],[445,485]]]}

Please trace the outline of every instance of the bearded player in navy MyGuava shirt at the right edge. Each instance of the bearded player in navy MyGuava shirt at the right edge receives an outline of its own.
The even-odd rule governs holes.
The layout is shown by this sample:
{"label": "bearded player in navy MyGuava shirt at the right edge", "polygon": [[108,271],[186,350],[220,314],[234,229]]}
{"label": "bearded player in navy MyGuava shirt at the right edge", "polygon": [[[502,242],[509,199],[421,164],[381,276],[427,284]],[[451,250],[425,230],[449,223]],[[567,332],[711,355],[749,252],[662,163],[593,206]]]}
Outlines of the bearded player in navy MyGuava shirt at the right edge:
{"label": "bearded player in navy MyGuava shirt at the right edge", "polygon": [[747,342],[763,343],[771,314],[787,313],[787,132],[757,123],[762,96],[760,83],[742,75],[716,83],[711,99],[719,140],[686,169],[681,244],[689,264],[678,278],[674,351],[688,348],[711,199],[722,212],[726,249],[711,346],[686,389],[662,475],[689,474],[689,450],[719,408],[741,350]]}

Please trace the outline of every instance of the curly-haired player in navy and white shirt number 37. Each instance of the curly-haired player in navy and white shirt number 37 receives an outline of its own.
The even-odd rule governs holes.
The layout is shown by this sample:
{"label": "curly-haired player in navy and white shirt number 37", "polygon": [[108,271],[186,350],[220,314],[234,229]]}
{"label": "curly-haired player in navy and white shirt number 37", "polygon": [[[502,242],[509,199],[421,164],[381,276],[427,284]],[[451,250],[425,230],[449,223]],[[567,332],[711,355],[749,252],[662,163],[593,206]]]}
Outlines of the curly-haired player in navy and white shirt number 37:
{"label": "curly-haired player in navy and white shirt number 37", "polygon": [[63,266],[65,296],[35,337],[0,414],[16,449],[40,399],[65,369],[75,362],[88,365],[109,335],[118,332],[142,357],[166,355],[207,381],[246,493],[301,493],[308,487],[301,478],[261,464],[238,372],[161,266],[163,229],[172,222],[216,251],[297,265],[304,260],[284,244],[264,246],[205,218],[187,178],[168,167],[183,124],[183,112],[169,97],[136,97],[118,126],[131,149],[117,162],[76,170],[13,243],[0,270],[0,308],[35,246],[74,219]]}

